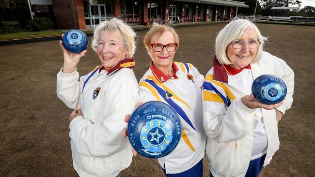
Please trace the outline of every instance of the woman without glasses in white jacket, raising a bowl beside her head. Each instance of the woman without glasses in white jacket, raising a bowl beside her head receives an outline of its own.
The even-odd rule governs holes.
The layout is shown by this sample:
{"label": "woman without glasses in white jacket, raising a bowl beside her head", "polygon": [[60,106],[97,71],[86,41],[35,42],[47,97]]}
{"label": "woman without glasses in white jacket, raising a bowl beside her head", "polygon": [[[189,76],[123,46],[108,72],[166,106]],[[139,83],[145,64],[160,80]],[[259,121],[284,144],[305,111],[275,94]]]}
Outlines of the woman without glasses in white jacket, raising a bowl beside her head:
{"label": "woman without glasses in white jacket, raising a bowl beside her head", "polygon": [[[86,50],[73,54],[63,49],[63,67],[57,74],[57,96],[69,108],[74,169],[80,177],[116,177],[132,160],[124,118],[139,99],[133,73],[135,32],[122,21],[104,21],[94,31],[92,48],[101,65],[87,75],[77,72]],[[79,79],[79,81],[78,81]]]}

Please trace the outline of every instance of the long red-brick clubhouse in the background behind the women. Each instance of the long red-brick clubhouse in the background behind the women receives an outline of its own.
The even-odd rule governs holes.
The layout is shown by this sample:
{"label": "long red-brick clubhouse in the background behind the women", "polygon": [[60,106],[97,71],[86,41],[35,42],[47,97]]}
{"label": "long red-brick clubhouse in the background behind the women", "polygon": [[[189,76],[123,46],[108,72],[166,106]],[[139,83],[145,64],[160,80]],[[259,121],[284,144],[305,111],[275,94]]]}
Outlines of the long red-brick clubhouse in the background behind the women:
{"label": "long red-brick clubhouse in the background behind the women", "polygon": [[[31,0],[32,7],[40,0]],[[121,18],[132,25],[153,21],[187,23],[230,20],[238,7],[234,0],[44,0],[52,4],[57,28],[85,29],[104,19]],[[43,1],[41,1],[43,3]],[[43,4],[41,4],[43,6]]]}

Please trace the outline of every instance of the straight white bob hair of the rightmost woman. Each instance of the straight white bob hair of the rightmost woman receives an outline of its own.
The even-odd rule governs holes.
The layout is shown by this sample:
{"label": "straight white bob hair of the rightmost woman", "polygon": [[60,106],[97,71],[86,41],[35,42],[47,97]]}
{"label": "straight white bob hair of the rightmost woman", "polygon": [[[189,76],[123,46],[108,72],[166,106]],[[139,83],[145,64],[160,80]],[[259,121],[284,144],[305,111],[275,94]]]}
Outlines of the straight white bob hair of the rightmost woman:
{"label": "straight white bob hair of the rightmost woman", "polygon": [[216,56],[221,64],[232,64],[227,57],[226,49],[231,42],[241,38],[249,29],[256,31],[257,39],[261,43],[252,62],[257,63],[260,60],[267,37],[262,36],[260,30],[250,20],[235,17],[229,24],[221,29],[216,38]]}

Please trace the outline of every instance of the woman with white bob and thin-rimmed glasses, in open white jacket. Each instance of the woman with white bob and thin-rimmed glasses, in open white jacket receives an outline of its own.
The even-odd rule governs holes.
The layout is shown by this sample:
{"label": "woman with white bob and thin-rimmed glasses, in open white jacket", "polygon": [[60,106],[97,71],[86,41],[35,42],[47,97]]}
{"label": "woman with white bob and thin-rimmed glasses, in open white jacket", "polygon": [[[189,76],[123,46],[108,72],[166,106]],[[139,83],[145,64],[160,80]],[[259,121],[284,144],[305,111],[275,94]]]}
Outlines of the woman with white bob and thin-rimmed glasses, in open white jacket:
{"label": "woman with white bob and thin-rimmed glasses, in open white jacket", "polygon": [[[279,149],[278,125],[293,102],[294,74],[263,51],[266,38],[246,19],[234,19],[216,38],[213,68],[203,84],[206,156],[211,177],[257,177]],[[283,102],[255,100],[251,86],[262,74],[274,74],[287,86]]]}

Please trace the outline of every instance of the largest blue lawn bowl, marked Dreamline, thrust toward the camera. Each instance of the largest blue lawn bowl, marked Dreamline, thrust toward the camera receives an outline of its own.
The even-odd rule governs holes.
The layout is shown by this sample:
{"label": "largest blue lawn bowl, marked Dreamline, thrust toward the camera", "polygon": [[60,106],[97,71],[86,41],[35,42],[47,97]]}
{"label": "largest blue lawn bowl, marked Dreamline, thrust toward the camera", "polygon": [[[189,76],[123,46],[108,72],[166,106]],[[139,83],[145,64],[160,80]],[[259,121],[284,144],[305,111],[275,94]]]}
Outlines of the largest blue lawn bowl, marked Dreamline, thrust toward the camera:
{"label": "largest blue lawn bowl, marked Dreamline, thrust toward the camera", "polygon": [[131,115],[128,127],[131,146],[147,158],[161,158],[178,145],[182,125],[176,111],[166,103],[143,103]]}

